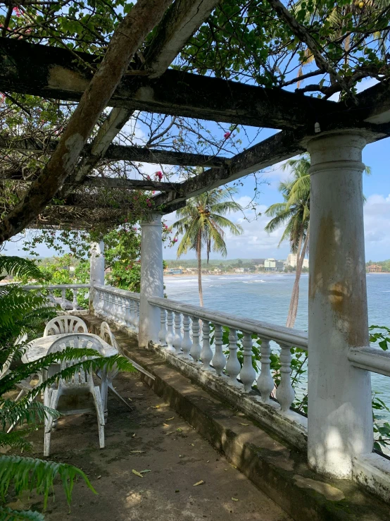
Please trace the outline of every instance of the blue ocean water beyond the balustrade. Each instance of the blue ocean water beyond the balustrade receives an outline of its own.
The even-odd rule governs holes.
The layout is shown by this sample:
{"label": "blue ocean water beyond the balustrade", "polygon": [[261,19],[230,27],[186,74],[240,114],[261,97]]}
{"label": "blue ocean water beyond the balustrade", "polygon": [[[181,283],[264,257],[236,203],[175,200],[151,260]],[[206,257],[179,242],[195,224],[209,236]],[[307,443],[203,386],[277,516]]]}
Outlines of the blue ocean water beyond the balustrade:
{"label": "blue ocean water beyond the balustrade", "polygon": [[[199,305],[196,276],[168,276],[164,283],[168,298]],[[208,309],[286,324],[294,274],[203,276],[202,283]],[[390,327],[390,274],[367,274],[367,300],[369,324]],[[301,276],[295,327],[308,329],[308,274]],[[390,407],[390,378],[372,373],[372,389]]]}

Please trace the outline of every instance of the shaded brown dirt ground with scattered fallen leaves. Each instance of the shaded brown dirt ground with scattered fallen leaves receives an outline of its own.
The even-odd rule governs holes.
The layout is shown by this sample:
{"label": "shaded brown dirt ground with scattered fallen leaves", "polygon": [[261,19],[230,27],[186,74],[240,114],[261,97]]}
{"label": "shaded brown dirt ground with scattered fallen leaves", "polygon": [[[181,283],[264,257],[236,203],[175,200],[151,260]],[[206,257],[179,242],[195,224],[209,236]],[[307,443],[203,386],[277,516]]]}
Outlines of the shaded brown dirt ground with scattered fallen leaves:
{"label": "shaded brown dirt ground with scattered fallen leaves", "polygon": [[[69,509],[57,484],[55,501],[49,498],[47,521],[291,519],[162,403],[137,374],[121,374],[115,386],[134,410],[109,396],[106,448],[99,449],[94,415],[59,419],[49,459],[82,468],[98,494],[78,482]],[[29,439],[34,447],[30,455],[42,458],[42,428]],[[203,483],[194,486],[199,482]],[[18,505],[42,511],[43,503],[23,498]]]}

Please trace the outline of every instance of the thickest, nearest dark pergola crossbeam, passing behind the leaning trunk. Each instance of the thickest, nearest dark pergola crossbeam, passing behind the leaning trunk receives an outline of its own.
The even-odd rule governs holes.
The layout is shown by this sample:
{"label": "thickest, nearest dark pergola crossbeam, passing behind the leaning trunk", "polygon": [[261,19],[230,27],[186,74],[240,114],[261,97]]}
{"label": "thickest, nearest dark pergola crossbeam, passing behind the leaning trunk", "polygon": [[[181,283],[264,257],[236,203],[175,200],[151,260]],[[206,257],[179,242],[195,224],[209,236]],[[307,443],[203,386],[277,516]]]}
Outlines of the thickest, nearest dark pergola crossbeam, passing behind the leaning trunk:
{"label": "thickest, nearest dark pergola crossbeam, passing behind the leaning trunk", "polygon": [[[89,85],[94,56],[66,49],[0,39],[0,90],[77,102]],[[111,106],[210,121],[294,129],[338,113],[339,104],[281,89],[169,70],[155,80],[128,71]]]}

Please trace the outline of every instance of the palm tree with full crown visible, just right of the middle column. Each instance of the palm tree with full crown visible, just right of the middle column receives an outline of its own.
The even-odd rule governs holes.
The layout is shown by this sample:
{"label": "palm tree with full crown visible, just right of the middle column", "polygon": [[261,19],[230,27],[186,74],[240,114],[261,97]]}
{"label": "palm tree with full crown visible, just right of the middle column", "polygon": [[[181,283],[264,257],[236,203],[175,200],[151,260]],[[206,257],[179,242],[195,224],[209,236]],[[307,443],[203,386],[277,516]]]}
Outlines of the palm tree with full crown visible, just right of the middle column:
{"label": "palm tree with full crown visible, just right of the middle column", "polygon": [[206,247],[207,262],[211,248],[213,252],[227,255],[227,248],[224,240],[227,228],[233,235],[240,235],[243,229],[239,224],[234,224],[225,217],[229,212],[238,212],[241,206],[231,200],[231,196],[237,193],[235,188],[215,188],[209,192],[192,197],[187,201],[187,206],[177,210],[180,217],[172,226],[176,229],[177,235],[183,235],[180,245],[177,248],[177,258],[181,257],[188,250],[196,251],[198,259],[198,286],[199,302],[203,306],[202,290],[202,262],[201,251]]}

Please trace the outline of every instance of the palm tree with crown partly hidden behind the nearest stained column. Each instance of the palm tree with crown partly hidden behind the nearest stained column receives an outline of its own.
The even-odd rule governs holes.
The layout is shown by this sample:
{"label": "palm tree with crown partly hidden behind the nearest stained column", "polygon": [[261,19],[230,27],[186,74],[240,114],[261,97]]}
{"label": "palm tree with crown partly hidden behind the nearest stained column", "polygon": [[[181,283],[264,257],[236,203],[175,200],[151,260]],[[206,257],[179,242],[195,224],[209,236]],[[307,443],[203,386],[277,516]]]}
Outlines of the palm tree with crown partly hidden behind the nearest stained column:
{"label": "palm tree with crown partly hidden behind the nearest stained column", "polygon": [[279,191],[284,202],[272,204],[265,214],[273,217],[265,226],[268,233],[287,223],[279,245],[289,240],[291,253],[296,254],[296,275],[291,294],[287,327],[294,327],[299,300],[299,279],[301,278],[303,259],[305,259],[309,240],[309,208],[310,208],[310,159],[304,155],[301,159],[290,159],[283,169],[291,168],[293,179],[282,182]]}

